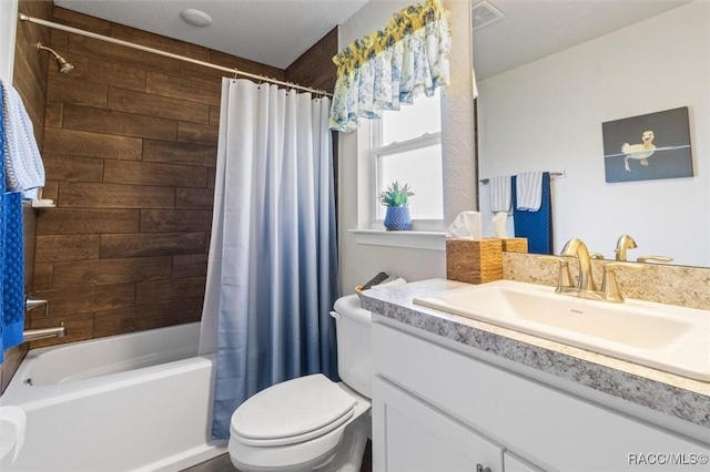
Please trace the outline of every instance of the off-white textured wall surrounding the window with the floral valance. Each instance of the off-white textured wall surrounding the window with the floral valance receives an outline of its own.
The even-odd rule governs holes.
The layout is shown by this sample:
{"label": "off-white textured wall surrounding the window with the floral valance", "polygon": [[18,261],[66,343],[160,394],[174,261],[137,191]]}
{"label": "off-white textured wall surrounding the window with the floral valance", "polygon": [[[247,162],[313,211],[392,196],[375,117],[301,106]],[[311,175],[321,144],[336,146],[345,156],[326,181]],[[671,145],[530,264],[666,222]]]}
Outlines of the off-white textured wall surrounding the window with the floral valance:
{"label": "off-white textured wall surrounding the window with the floral valance", "polygon": [[[382,29],[393,13],[412,1],[371,0],[341,25],[339,49],[355,39]],[[444,215],[449,223],[463,209],[475,206],[476,168],[473,154],[471,52],[468,29],[469,1],[445,1],[452,11],[454,50],[452,51],[453,83],[443,95],[442,146],[444,152]],[[366,123],[365,123],[366,126]],[[378,271],[387,271],[407,280],[446,277],[446,254],[443,250],[407,249],[371,246],[355,243],[348,229],[358,227],[357,216],[357,153],[367,146],[362,132],[339,135],[339,267],[341,291],[352,294],[354,287],[366,283]]]}

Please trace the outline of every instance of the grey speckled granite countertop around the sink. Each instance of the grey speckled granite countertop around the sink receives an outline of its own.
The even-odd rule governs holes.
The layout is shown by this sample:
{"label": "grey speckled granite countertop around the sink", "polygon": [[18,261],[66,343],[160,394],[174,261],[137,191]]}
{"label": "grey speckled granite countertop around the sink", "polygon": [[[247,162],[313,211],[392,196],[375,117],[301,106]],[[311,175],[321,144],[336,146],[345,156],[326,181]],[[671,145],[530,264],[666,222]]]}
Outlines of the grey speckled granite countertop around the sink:
{"label": "grey speckled granite countertop around the sink", "polygon": [[465,346],[710,428],[710,383],[414,305],[415,297],[467,287],[445,279],[373,288],[363,308]]}

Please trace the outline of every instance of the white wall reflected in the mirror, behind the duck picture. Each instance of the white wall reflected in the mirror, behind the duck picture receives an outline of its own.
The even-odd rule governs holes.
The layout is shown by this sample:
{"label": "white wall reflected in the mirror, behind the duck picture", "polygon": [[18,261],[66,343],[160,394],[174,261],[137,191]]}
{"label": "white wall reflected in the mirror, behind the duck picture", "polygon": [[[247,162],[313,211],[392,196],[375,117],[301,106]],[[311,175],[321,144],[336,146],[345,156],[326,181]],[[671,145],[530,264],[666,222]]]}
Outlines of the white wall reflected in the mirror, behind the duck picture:
{"label": "white wall reflected in the mirror, behind the duck picture", "polygon": [[[673,9],[478,89],[481,177],[567,173],[554,183],[556,252],[577,236],[613,257],[627,233],[639,246],[630,257],[661,254],[674,264],[710,266],[710,2]],[[680,106],[690,111],[696,176],[605,183],[601,123]],[[488,187],[480,191],[487,223]]]}

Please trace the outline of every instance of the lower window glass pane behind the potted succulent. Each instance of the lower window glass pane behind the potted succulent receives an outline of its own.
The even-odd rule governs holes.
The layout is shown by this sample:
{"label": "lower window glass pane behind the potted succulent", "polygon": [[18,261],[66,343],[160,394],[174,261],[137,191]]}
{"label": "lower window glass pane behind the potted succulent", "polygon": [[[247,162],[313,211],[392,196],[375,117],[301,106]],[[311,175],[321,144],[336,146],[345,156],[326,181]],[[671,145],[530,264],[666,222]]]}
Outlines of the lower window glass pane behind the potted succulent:
{"label": "lower window glass pane behind the potted succulent", "polygon": [[[390,183],[409,184],[414,196],[409,198],[413,219],[444,218],[442,189],[442,144],[377,156],[377,194]],[[385,218],[387,207],[377,204],[377,219]]]}

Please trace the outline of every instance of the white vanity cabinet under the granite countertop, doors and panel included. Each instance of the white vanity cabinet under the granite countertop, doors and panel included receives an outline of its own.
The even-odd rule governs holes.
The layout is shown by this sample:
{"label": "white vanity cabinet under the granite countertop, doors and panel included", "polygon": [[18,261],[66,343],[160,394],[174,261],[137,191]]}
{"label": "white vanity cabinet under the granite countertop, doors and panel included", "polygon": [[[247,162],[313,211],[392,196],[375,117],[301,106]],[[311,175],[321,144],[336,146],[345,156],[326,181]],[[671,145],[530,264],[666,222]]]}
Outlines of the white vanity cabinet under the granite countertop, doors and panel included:
{"label": "white vanity cabinet under the granite countertop, doors and panel included", "polygon": [[710,431],[689,440],[383,320],[373,324],[375,472],[708,470],[638,458],[709,454]]}

